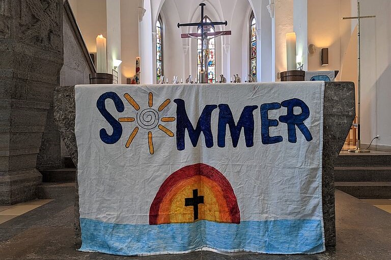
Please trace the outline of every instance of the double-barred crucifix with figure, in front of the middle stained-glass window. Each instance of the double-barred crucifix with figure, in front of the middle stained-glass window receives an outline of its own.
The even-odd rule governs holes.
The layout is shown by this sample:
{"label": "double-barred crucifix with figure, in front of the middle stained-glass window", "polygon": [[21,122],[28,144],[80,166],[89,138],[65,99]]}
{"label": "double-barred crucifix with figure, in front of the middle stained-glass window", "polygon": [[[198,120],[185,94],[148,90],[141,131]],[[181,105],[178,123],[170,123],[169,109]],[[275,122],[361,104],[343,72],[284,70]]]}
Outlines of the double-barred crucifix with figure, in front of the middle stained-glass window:
{"label": "double-barred crucifix with figure, in front of the middle stained-glass window", "polygon": [[[181,26],[197,26],[200,27],[201,33],[195,33],[195,34],[181,34],[181,38],[197,38],[201,40],[201,71],[205,71],[204,68],[204,42],[205,39],[208,38],[215,38],[218,36],[224,36],[224,35],[231,35],[231,31],[221,31],[221,32],[208,32],[207,28],[210,28],[213,25],[226,25],[228,24],[227,21],[225,22],[204,22],[204,6],[206,4],[202,3],[201,6],[201,21],[200,22],[191,22],[191,23],[179,23],[178,22],[178,28]],[[206,48],[207,45],[205,46]],[[207,75],[207,73],[205,73]],[[200,78],[201,81],[201,78]]]}

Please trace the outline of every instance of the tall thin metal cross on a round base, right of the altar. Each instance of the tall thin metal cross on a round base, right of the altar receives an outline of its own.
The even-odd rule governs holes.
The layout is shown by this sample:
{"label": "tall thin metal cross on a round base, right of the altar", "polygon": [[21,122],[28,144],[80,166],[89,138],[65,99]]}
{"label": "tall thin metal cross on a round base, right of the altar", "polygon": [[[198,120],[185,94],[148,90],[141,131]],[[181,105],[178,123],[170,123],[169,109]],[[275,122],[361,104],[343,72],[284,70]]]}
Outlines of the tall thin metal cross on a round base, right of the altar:
{"label": "tall thin metal cross on a round base, right of the altar", "polygon": [[[370,150],[361,149],[361,140],[360,140],[360,99],[361,99],[361,91],[360,91],[360,19],[361,18],[375,18],[376,15],[369,16],[360,16],[360,2],[357,1],[357,16],[353,17],[342,17],[342,20],[346,19],[357,19],[357,147],[356,149],[348,150],[350,153],[369,153]],[[355,141],[355,140],[354,140]]]}

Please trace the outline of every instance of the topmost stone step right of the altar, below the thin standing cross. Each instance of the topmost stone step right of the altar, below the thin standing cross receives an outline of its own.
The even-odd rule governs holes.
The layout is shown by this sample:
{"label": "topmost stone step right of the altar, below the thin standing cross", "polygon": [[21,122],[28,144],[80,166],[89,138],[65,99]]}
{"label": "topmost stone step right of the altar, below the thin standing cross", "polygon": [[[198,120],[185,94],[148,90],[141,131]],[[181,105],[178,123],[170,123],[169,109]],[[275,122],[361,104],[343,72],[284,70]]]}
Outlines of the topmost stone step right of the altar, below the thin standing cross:
{"label": "topmost stone step right of the altar, below the thin standing cross", "polygon": [[391,153],[341,153],[334,166],[391,166]]}

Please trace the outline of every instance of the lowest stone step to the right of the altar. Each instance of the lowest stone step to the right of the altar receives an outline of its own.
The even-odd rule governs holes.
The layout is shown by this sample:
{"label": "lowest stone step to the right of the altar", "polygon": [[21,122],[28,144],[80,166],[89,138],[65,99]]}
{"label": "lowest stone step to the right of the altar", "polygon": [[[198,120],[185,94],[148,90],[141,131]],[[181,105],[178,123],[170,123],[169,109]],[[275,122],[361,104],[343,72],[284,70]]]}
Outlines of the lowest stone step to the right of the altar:
{"label": "lowest stone step to the right of the altar", "polygon": [[391,182],[336,182],[335,186],[356,198],[391,198]]}

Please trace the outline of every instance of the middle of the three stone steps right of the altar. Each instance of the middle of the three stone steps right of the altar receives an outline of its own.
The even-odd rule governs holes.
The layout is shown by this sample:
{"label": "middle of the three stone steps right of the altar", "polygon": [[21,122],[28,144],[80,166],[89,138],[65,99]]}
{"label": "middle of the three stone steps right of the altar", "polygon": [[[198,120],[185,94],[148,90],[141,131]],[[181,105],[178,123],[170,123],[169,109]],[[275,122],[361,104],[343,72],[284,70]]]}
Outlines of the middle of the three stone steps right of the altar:
{"label": "middle of the three stone steps right of the altar", "polygon": [[336,166],[336,182],[391,182],[391,166]]}

